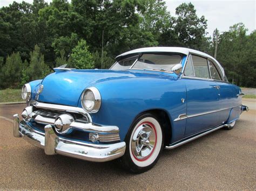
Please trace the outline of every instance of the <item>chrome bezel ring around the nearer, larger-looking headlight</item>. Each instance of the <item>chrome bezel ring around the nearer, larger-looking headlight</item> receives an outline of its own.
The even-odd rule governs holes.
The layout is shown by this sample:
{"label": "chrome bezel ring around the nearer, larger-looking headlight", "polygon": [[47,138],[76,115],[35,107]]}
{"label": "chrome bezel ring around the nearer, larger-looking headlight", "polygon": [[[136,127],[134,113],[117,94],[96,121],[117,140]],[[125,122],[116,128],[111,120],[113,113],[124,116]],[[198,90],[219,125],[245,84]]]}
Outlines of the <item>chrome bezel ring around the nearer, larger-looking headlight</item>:
{"label": "chrome bezel ring around the nearer, larger-looking headlight", "polygon": [[[94,96],[94,105],[92,107],[92,109],[89,109],[89,108],[86,108],[86,105],[85,105],[85,95],[86,95],[86,92],[87,91],[91,91],[93,96]],[[92,100],[90,100],[92,101]],[[82,108],[89,112],[89,113],[96,113],[99,111],[100,109],[100,105],[102,104],[102,97],[100,96],[100,93],[99,93],[99,90],[96,88],[96,87],[89,87],[89,88],[86,88],[84,91],[83,91],[83,94],[82,94],[82,97],[81,97],[81,104],[82,104]]]}

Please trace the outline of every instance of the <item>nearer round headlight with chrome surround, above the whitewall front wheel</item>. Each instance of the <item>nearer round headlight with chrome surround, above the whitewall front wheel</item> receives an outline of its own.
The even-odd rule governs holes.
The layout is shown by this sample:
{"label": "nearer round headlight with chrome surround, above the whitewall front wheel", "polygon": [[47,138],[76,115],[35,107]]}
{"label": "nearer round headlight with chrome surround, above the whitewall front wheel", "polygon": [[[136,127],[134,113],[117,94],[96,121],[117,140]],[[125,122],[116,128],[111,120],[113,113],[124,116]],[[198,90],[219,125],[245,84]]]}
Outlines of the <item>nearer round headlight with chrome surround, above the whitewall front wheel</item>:
{"label": "nearer round headlight with chrome surround, above the whitewall front wheel", "polygon": [[99,90],[95,87],[85,89],[82,94],[81,102],[84,110],[91,113],[98,112],[100,104],[102,103]]}

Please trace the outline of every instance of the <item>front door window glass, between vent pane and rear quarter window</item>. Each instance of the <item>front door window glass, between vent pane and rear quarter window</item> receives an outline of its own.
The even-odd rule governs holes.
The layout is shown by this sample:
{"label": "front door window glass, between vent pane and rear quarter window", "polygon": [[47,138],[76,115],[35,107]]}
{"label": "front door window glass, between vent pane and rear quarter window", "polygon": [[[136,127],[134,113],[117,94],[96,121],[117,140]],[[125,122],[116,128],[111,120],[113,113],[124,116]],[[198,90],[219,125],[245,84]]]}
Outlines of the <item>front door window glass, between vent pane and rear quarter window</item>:
{"label": "front door window glass, between vent pane and rear quarter window", "polygon": [[210,78],[207,59],[192,55],[194,74],[196,77]]}

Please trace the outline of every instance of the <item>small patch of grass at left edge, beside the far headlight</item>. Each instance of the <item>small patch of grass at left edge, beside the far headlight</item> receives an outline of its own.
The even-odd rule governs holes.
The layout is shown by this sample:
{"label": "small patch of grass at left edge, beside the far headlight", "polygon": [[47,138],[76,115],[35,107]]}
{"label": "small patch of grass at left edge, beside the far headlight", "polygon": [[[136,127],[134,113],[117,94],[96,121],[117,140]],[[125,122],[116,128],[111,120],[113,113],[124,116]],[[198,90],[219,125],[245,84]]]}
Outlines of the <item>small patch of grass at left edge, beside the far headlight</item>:
{"label": "small patch of grass at left edge, beside the far headlight", "polygon": [[0,103],[3,102],[22,102],[21,89],[0,90]]}

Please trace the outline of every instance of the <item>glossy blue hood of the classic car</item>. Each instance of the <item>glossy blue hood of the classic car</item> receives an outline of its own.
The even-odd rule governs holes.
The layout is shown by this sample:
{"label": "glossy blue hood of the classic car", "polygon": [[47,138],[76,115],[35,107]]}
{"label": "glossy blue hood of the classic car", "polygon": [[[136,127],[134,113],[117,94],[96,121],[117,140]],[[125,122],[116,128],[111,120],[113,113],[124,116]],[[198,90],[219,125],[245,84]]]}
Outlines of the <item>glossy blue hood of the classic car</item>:
{"label": "glossy blue hood of the classic car", "polygon": [[[160,75],[159,75],[160,74]],[[43,90],[38,101],[71,105],[77,107],[80,95],[87,87],[106,80],[118,80],[131,77],[169,77],[172,74],[148,70],[68,70],[52,73],[44,78]]]}

